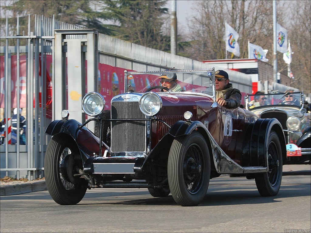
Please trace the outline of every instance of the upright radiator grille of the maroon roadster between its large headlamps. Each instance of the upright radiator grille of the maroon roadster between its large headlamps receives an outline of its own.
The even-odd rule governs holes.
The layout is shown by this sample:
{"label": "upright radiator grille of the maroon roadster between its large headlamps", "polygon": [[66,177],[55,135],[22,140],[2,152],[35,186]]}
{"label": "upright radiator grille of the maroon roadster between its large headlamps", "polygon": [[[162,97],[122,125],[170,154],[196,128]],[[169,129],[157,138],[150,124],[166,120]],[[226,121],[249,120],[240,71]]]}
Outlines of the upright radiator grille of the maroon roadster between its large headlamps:
{"label": "upright radiator grille of the maroon roadster between its large headlamps", "polygon": [[[146,118],[138,102],[112,102],[112,119]],[[111,121],[111,152],[145,152],[146,121]]]}

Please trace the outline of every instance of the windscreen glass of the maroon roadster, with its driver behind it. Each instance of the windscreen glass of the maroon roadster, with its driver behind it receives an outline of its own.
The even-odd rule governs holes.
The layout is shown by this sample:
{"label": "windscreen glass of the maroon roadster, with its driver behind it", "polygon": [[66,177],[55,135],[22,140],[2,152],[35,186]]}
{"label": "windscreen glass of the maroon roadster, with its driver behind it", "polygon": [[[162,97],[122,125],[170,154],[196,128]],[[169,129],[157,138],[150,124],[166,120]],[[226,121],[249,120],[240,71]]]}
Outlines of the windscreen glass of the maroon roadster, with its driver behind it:
{"label": "windscreen glass of the maroon roadster, with its driver behind it", "polygon": [[152,74],[128,75],[128,91],[193,92],[213,96],[211,72],[169,73],[159,71]]}

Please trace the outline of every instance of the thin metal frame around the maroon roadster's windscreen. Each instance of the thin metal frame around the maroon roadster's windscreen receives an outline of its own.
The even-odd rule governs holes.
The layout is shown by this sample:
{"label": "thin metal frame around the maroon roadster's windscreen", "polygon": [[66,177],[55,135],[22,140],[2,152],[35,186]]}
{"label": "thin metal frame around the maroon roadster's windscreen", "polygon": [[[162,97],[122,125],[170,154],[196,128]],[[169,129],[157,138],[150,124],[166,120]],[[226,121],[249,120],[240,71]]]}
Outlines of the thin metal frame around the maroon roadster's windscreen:
{"label": "thin metal frame around the maroon roadster's windscreen", "polygon": [[175,73],[175,74],[183,74],[183,73],[203,73],[203,72],[211,72],[211,83],[212,83],[212,90],[213,95],[205,94],[205,93],[198,93],[198,92],[189,92],[189,91],[182,91],[182,92],[165,92],[165,94],[192,94],[192,95],[201,95],[205,97],[210,97],[214,101],[216,97],[216,87],[215,87],[215,67],[211,69],[203,69],[203,70],[169,70],[169,71],[126,71],[124,70],[124,93],[128,92],[129,82],[128,82],[128,75],[160,75],[163,73]]}

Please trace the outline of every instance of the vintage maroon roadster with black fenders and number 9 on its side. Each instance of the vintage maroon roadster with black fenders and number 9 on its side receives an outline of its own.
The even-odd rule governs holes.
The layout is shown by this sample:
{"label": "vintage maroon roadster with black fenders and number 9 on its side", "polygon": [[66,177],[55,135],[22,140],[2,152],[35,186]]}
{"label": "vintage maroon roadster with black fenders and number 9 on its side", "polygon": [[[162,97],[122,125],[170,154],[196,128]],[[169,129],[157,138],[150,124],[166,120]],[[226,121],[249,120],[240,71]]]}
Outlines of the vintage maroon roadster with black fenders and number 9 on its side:
{"label": "vintage maroon roadster with black fenders and number 9 on its side", "polygon": [[[176,203],[194,206],[221,174],[255,179],[262,196],[278,193],[286,160],[280,122],[219,106],[214,68],[124,73],[125,93],[112,98],[111,110],[91,92],[82,108],[94,118],[81,124],[63,110],[46,129],[53,137],[45,179],[56,203],[77,204],[91,188],[148,188],[154,197],[171,192]],[[182,91],[162,87],[161,73],[176,73]],[[136,90],[134,80],[146,87]]]}

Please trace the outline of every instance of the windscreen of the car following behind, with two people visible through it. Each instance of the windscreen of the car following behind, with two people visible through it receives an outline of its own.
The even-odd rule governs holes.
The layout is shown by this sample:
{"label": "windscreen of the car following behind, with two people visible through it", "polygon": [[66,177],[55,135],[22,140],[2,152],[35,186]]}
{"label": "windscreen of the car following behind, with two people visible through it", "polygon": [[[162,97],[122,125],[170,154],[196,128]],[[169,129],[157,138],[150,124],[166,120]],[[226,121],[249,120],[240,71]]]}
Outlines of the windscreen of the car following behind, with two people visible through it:
{"label": "windscreen of the car following behind, with two people visible through it", "polygon": [[300,92],[288,92],[277,94],[257,94],[248,95],[248,109],[254,109],[257,107],[284,105],[284,106],[296,106],[301,107],[302,99]]}

